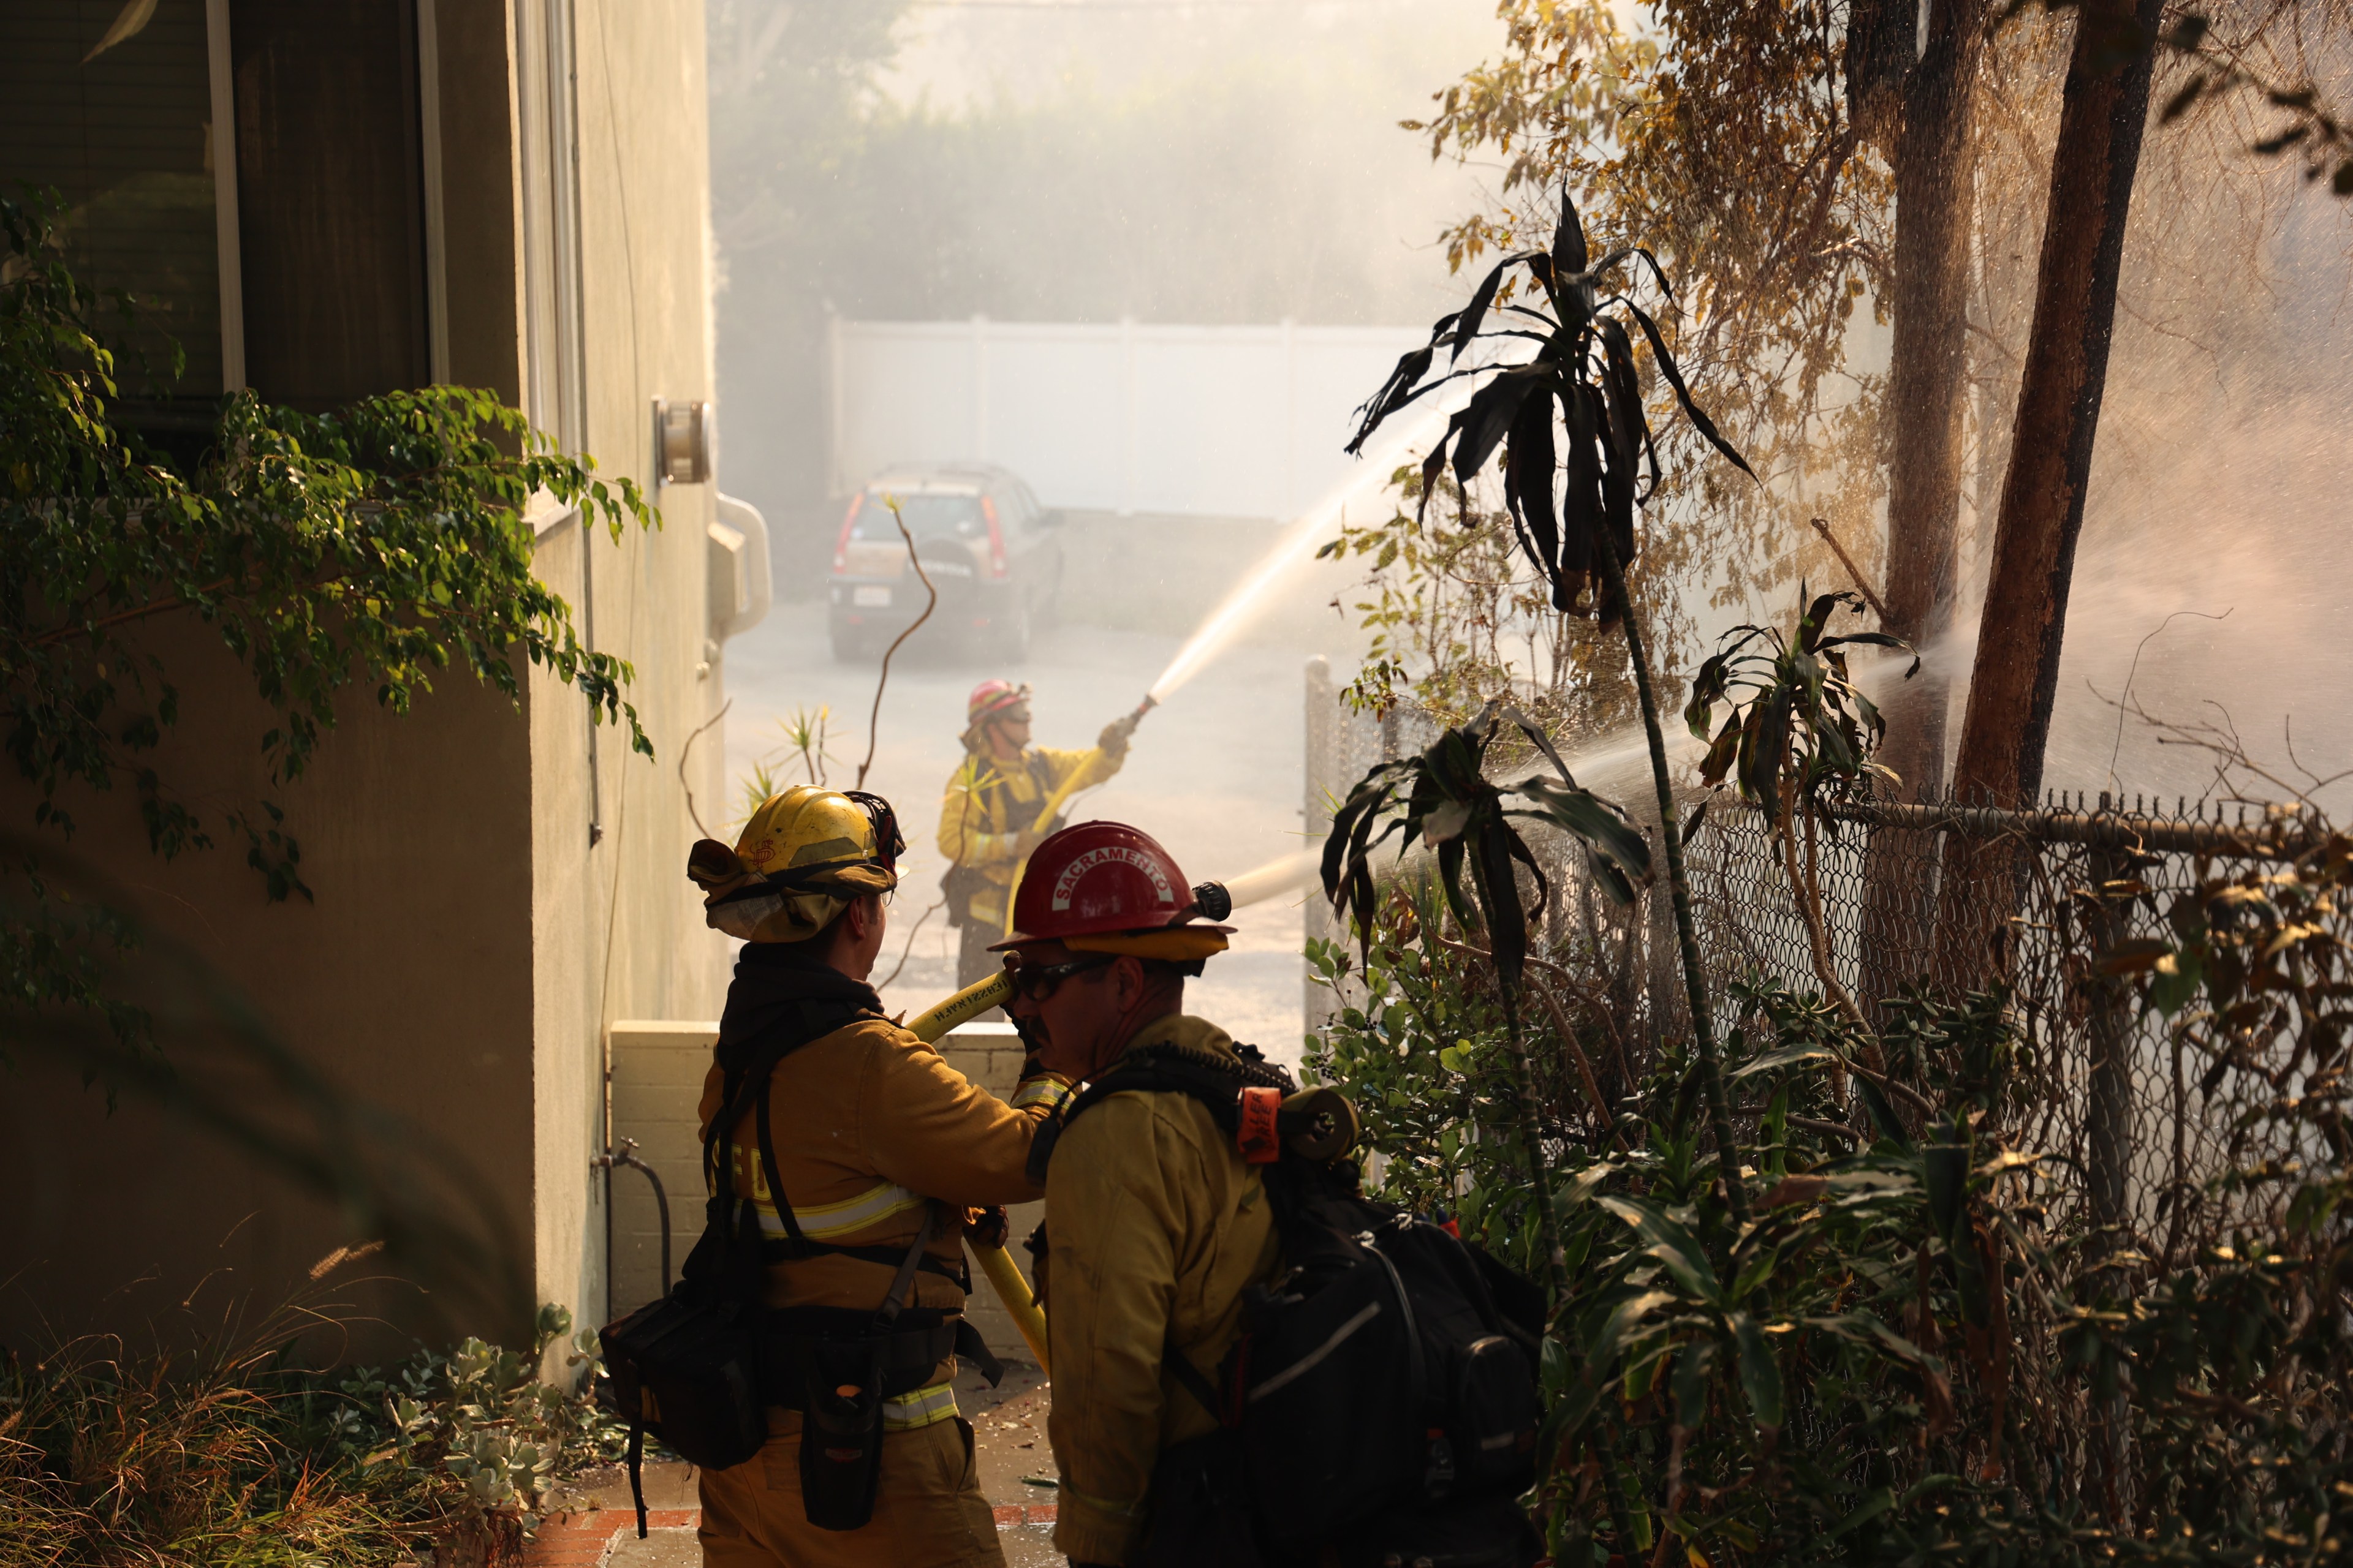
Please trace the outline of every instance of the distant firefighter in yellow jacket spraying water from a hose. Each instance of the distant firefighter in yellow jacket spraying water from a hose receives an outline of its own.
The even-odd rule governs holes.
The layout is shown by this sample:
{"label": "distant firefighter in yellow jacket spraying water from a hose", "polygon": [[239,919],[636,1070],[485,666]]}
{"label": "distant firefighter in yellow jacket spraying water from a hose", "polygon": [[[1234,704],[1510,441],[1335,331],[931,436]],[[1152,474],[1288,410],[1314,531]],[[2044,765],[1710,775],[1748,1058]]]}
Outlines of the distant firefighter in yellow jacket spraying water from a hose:
{"label": "distant firefighter in yellow jacket spraying water from a hose", "polygon": [[1094,750],[1066,752],[1031,745],[1031,689],[986,679],[965,701],[965,759],[939,802],[939,853],[948,860],[941,884],[948,924],[962,929],[955,954],[958,987],[998,971],[988,945],[1005,936],[1005,903],[1014,877],[1061,823],[1038,813],[1056,792],[1099,785],[1127,762],[1127,741],[1144,710],[1113,719]]}

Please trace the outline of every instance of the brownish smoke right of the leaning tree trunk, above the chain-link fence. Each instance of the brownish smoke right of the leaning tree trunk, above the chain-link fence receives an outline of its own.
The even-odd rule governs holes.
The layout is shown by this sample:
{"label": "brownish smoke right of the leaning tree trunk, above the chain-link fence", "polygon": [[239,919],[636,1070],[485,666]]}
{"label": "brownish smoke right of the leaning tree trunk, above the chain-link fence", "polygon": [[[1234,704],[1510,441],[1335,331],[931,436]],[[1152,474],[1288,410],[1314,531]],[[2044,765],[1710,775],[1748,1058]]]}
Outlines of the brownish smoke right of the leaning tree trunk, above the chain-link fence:
{"label": "brownish smoke right of the leaning tree trunk, above the chain-link fence", "polygon": [[[2344,820],[2320,780],[2353,769],[2353,202],[2242,148],[2148,134],[2045,780],[2212,788],[2207,752],[2118,710],[2129,682]],[[1955,623],[1974,651],[1974,599]]]}

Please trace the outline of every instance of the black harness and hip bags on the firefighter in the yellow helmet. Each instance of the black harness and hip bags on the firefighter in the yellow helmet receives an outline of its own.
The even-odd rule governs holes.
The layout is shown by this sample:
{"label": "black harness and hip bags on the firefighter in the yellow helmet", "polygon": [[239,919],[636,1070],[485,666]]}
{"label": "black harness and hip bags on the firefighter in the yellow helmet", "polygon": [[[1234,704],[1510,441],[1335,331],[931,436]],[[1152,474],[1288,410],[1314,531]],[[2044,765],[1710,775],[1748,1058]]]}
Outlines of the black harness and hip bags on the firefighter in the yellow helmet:
{"label": "black harness and hip bags on the firefighter in the yellow helmet", "polygon": [[[925,1253],[932,1213],[915,1244],[894,1248],[835,1246],[800,1234],[776,1173],[767,1084],[805,1044],[864,1016],[847,1004],[805,1001],[760,1039],[746,1065],[722,1079],[720,1112],[704,1131],[704,1182],[711,1199],[704,1234],[680,1267],[678,1286],[598,1335],[607,1375],[598,1403],[628,1422],[628,1486],[645,1535],[642,1455],[652,1432],[701,1469],[748,1462],[767,1443],[769,1406],[802,1413],[802,1507],[809,1523],[854,1530],[873,1512],[882,1443],[882,1401],[922,1387],[948,1354],[969,1356],[991,1385],[1002,1363],[962,1316],[906,1307],[918,1269],[948,1274],[965,1293],[969,1276]],[[753,1199],[734,1199],[720,1147],[758,1107],[760,1166],[786,1234],[765,1239]],[[854,1307],[762,1307],[767,1265],[845,1253],[896,1269],[873,1312]],[[854,1392],[854,1399],[842,1399]]]}

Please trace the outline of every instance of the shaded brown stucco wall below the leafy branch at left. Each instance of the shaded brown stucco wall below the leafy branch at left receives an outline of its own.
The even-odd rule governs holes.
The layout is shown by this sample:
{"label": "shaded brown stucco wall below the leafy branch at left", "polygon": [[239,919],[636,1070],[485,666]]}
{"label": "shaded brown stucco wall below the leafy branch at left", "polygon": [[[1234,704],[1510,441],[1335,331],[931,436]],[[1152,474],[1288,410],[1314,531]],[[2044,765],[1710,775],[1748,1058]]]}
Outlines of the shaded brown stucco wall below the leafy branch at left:
{"label": "shaded brown stucco wall below the leafy branch at left", "polygon": [[[442,679],[409,717],[351,691],[313,766],[282,792],[287,830],[315,900],[268,903],[224,809],[256,799],[271,712],[193,621],[153,642],[181,686],[160,771],[219,842],[176,860],[148,853],[129,788],[68,797],[80,830],[64,846],[113,879],[132,912],[240,987],[256,1013],[348,1095],[447,1145],[459,1185],[529,1234],[532,997],[527,731],[511,703],[466,677]],[[28,820],[14,778],[0,802]],[[165,999],[167,1004],[172,997]],[[186,1001],[181,997],[181,1001]],[[176,1039],[165,1020],[165,1039]],[[275,1305],[320,1255],[353,1239],[327,1204],[136,1098],[108,1114],[104,1088],[21,1044],[0,1067],[0,1335],[38,1345],[47,1328],[127,1331],[200,1298]],[[188,1056],[219,1077],[216,1056]],[[296,1114],[264,1079],[252,1103]],[[424,1150],[395,1140],[395,1150]],[[433,1159],[435,1171],[452,1168]],[[414,1291],[362,1291],[395,1324],[433,1326]],[[478,1302],[459,1305],[478,1312]],[[47,1328],[42,1328],[47,1326]],[[515,1333],[520,1324],[471,1324]]]}

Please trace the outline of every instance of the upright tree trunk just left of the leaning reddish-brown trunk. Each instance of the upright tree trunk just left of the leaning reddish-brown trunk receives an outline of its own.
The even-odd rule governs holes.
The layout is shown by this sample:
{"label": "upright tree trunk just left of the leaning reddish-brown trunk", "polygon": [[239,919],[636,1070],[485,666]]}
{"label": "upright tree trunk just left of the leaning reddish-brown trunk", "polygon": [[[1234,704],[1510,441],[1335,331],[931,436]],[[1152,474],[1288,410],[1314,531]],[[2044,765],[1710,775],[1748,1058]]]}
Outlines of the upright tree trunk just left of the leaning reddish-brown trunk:
{"label": "upright tree trunk just left of the leaning reddish-brown trunk", "polygon": [[[1904,42],[1908,47],[1911,38]],[[1929,0],[1927,47],[1904,78],[1904,127],[1894,148],[1885,630],[1915,649],[1951,628],[1960,559],[1969,230],[1977,209],[1972,136],[1984,42],[1984,0]],[[1941,663],[1925,665],[1882,703],[1887,738],[1878,759],[1897,771],[1904,795],[1913,799],[1944,792],[1946,708]],[[1866,1004],[1927,966],[1920,938],[1934,905],[1929,872],[1937,860],[1932,846],[1911,842],[1918,837],[1885,827],[1871,835],[1859,976]]]}

